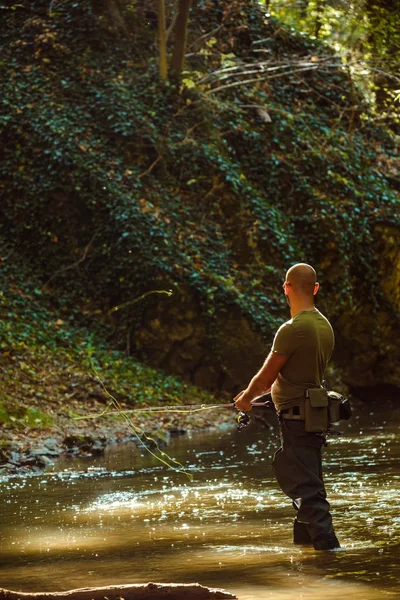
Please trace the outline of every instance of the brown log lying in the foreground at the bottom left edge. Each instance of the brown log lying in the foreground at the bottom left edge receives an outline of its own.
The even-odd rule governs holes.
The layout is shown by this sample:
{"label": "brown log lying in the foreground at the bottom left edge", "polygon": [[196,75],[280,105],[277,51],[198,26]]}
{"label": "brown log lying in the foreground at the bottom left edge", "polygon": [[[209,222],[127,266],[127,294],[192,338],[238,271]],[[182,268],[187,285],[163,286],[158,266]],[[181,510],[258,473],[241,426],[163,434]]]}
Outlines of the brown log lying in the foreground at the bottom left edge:
{"label": "brown log lying in the foreground at the bottom left edge", "polygon": [[217,600],[237,596],[198,583],[147,583],[27,594],[0,589],[0,600]]}

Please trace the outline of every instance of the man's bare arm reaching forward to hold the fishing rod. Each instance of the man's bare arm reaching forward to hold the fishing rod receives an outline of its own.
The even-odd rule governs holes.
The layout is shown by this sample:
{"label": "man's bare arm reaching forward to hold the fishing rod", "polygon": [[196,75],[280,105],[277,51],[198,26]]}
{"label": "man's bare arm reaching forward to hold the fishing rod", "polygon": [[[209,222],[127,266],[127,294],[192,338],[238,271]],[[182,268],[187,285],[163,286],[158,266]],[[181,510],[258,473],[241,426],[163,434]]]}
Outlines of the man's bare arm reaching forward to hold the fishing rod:
{"label": "man's bare arm reaching forward to hold the fishing rod", "polygon": [[286,361],[287,356],[284,354],[270,352],[265,363],[258,373],[254,375],[247,388],[234,398],[233,401],[236,408],[239,410],[250,410],[251,403],[254,400],[260,396],[264,396],[264,394],[268,394]]}

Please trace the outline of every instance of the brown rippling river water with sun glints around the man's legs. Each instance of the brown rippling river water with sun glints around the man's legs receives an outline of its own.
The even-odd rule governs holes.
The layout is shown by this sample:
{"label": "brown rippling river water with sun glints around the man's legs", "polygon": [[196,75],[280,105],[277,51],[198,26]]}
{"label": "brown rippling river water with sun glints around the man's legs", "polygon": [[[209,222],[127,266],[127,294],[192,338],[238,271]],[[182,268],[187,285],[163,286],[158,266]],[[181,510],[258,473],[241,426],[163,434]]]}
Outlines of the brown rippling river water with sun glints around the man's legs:
{"label": "brown rippling river water with sun glints around the man's legs", "polygon": [[200,582],[240,600],[400,598],[400,409],[359,409],[324,450],[343,549],[292,544],[272,427],[182,436],[169,470],[131,444],[0,480],[0,587]]}

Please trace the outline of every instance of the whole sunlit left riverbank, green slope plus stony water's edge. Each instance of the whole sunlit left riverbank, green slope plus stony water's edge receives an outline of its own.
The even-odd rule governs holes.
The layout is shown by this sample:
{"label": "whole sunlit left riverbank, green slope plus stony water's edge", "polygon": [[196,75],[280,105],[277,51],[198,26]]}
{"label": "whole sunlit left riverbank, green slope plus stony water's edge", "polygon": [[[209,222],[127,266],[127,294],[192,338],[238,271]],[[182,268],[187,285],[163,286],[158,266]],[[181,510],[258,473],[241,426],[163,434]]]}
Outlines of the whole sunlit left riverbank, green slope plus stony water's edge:
{"label": "whole sunlit left riverbank, green slope plus stony water's edge", "polygon": [[[42,290],[37,275],[7,252],[0,240],[0,256],[9,258],[0,293],[0,475],[41,472],[62,455],[101,455],[119,442],[154,447],[145,435],[162,447],[231,420],[229,410],[129,412],[229,399],[116,350],[108,322],[96,325],[87,312],[82,322],[82,307],[73,311],[64,296]],[[112,413],[111,396],[128,420]]]}

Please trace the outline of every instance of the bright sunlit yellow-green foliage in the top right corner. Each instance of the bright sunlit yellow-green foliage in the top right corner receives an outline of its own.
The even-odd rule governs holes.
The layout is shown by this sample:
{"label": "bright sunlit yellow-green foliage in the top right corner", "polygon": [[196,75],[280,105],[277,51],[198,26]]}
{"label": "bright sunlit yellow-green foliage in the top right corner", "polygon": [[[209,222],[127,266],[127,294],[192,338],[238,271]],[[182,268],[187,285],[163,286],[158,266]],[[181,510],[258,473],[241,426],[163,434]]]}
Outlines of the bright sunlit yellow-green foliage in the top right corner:
{"label": "bright sunlit yellow-green foliage in the top right corner", "polygon": [[395,90],[400,63],[400,7],[397,0],[270,0],[266,4],[268,16],[271,14],[329,44],[368,96],[373,108],[370,118],[384,116],[397,125],[398,131],[400,111]]}

